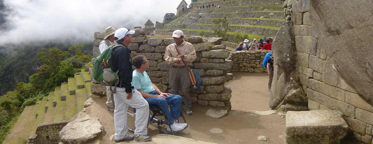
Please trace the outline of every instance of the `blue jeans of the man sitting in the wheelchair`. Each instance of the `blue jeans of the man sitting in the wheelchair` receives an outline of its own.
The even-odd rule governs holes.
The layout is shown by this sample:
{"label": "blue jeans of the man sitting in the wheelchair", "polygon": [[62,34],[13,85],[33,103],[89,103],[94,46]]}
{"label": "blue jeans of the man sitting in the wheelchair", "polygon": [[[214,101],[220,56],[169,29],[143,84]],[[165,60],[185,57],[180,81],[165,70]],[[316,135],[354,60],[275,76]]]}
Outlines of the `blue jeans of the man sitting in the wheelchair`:
{"label": "blue jeans of the man sitting in the wheelchair", "polygon": [[[156,91],[149,92],[151,95],[159,95]],[[159,106],[159,109],[162,109],[164,115],[166,115],[167,121],[169,124],[173,124],[173,120],[178,120],[181,112],[181,103],[182,98],[180,95],[169,95],[164,98],[145,98],[149,104],[155,104]],[[172,111],[170,112],[168,105],[171,105]]]}

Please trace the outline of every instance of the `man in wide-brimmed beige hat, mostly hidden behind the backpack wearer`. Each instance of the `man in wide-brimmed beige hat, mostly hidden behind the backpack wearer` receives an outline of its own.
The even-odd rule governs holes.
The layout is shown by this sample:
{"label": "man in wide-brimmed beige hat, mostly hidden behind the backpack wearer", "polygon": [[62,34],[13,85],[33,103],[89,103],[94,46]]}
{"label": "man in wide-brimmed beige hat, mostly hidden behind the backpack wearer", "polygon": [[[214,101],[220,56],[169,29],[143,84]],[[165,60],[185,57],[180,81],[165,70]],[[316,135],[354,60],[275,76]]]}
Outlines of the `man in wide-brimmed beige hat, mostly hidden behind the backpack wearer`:
{"label": "man in wide-brimmed beige hat, mostly hidden behind the backpack wearer", "polygon": [[[107,47],[116,44],[115,38],[114,38],[115,28],[113,26],[107,27],[104,33],[105,33],[104,40],[101,41],[100,45],[98,46],[98,49],[100,49],[100,53],[104,52],[104,50],[106,50]],[[112,101],[112,92],[110,91],[110,86],[106,86],[106,98],[107,98],[107,101],[106,101],[107,110],[110,112],[114,112],[114,104]]]}

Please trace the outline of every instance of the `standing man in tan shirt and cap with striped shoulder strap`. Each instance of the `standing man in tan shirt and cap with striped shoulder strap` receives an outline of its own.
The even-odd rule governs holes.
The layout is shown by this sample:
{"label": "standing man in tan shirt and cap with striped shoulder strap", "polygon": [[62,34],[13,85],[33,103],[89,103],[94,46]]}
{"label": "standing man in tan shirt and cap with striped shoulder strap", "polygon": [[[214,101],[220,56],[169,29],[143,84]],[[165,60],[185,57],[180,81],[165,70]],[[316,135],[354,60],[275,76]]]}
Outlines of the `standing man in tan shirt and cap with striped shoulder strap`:
{"label": "standing man in tan shirt and cap with striped shoulder strap", "polygon": [[[184,60],[187,65],[192,65],[197,55],[195,48],[191,43],[184,41],[184,33],[181,30],[175,30],[172,33],[172,38],[175,43],[170,44],[164,53],[164,59],[170,64],[170,78],[171,94],[179,95],[179,84],[184,94],[184,110],[186,114],[193,114],[192,101],[190,98],[190,79],[188,69],[181,60]],[[176,48],[179,49],[180,55]]]}

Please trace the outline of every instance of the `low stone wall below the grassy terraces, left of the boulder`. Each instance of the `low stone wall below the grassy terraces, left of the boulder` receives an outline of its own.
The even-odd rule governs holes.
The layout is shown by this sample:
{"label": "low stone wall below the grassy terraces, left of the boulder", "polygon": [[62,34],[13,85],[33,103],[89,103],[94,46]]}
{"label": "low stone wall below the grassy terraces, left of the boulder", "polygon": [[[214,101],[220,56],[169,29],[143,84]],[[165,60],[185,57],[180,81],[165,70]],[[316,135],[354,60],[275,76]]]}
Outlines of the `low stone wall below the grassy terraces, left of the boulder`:
{"label": "low stone wall below the grassy terraces, left of the boulder", "polygon": [[70,120],[39,124],[36,132],[29,137],[28,144],[57,144],[60,142],[59,132]]}

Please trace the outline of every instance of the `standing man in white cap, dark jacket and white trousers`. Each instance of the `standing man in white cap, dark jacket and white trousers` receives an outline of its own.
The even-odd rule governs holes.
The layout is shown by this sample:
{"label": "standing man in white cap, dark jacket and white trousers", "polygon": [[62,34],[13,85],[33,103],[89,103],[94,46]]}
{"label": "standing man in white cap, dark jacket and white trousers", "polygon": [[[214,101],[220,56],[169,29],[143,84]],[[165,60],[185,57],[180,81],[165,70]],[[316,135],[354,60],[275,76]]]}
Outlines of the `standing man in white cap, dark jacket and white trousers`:
{"label": "standing man in white cap, dark jacket and white trousers", "polygon": [[[112,52],[112,69],[113,72],[117,72],[119,76],[119,83],[117,85],[112,85],[115,101],[115,111],[114,111],[114,126],[115,142],[132,140],[136,141],[148,141],[152,138],[147,135],[148,129],[148,119],[149,119],[149,104],[142,97],[139,91],[131,85],[132,82],[132,60],[131,60],[131,50],[128,49],[130,43],[132,43],[132,34],[134,30],[129,30],[126,28],[117,29],[114,36],[118,40],[118,45],[113,49]],[[135,119],[135,136],[128,135],[127,127],[127,109],[128,106],[136,108],[136,119]]]}

